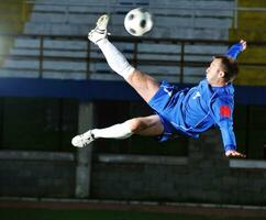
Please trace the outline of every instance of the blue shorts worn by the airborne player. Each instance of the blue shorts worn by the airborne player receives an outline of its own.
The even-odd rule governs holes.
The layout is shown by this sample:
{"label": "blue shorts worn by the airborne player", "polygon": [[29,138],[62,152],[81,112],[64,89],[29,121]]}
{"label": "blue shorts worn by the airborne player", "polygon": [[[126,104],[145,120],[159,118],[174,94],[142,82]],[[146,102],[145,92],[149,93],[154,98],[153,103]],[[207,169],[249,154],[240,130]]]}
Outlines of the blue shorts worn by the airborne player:
{"label": "blue shorts worn by the airborne player", "polygon": [[176,111],[179,111],[179,109],[177,109],[179,95],[180,90],[178,90],[176,86],[170,85],[167,81],[162,81],[158,91],[148,101],[148,105],[158,114],[164,125],[164,133],[158,136],[160,142],[167,141],[168,139],[175,139],[181,134],[181,132],[170,123],[170,113],[174,114]]}

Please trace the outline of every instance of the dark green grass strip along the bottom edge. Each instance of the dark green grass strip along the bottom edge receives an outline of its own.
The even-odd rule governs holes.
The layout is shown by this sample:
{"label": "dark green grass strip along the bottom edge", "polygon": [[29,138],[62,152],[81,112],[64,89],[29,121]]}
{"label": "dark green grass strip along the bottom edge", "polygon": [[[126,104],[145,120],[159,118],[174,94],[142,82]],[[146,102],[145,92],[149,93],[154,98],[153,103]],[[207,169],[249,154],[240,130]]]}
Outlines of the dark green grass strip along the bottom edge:
{"label": "dark green grass strip along the bottom edge", "polygon": [[263,217],[195,216],[114,210],[0,208],[1,220],[265,220]]}

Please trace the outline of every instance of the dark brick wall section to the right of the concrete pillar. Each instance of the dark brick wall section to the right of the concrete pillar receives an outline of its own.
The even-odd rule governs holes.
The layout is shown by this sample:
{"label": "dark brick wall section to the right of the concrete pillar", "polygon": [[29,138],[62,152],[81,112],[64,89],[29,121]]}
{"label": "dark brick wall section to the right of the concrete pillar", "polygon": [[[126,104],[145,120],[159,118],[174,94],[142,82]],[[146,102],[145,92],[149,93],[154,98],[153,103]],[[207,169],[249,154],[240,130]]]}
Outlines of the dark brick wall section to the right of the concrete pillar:
{"label": "dark brick wall section to the right of the concrete pillar", "polygon": [[219,136],[218,131],[210,131],[201,140],[190,140],[185,161],[98,161],[92,166],[91,195],[101,199],[265,205],[265,162],[261,167],[256,162],[244,167],[241,160],[223,157]]}

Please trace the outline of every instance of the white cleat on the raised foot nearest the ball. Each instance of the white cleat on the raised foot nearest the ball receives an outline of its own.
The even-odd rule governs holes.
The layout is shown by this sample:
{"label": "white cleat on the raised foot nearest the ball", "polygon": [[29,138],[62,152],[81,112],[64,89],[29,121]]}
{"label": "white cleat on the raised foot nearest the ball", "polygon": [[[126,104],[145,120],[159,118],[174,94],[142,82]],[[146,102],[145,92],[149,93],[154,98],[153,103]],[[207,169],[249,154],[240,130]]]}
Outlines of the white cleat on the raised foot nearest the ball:
{"label": "white cleat on the raised foot nearest the ball", "polygon": [[88,33],[88,38],[95,44],[97,44],[97,42],[99,42],[100,40],[106,38],[108,34],[107,33],[108,22],[109,22],[109,15],[108,14],[101,15],[97,21],[96,28]]}

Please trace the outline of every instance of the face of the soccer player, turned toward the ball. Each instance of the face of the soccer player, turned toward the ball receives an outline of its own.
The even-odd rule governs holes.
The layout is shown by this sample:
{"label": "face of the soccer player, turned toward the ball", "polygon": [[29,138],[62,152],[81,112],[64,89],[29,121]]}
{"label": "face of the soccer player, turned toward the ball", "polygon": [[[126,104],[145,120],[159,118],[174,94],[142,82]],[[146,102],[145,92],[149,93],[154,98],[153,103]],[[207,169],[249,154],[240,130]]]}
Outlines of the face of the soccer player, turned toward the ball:
{"label": "face of the soccer player, turned toward the ball", "polygon": [[223,81],[223,72],[221,70],[221,59],[214,58],[206,69],[206,78],[210,85],[217,85]]}

